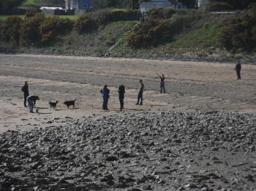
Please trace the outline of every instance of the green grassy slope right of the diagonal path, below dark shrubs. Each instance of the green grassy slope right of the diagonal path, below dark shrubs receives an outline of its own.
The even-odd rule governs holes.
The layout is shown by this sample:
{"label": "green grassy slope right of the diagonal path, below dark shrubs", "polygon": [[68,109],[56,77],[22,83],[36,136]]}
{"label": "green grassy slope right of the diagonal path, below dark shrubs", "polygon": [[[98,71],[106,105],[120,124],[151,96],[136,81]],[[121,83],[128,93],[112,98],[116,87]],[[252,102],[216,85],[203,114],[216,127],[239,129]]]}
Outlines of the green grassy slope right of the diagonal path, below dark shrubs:
{"label": "green grassy slope right of the diagonal path, below dark shrubs", "polygon": [[217,36],[218,27],[217,23],[201,24],[179,34],[175,40],[157,47],[131,48],[123,38],[112,52],[115,55],[135,57],[139,55],[143,55],[143,57],[151,57],[152,55],[155,57],[167,55],[208,56],[221,48]]}

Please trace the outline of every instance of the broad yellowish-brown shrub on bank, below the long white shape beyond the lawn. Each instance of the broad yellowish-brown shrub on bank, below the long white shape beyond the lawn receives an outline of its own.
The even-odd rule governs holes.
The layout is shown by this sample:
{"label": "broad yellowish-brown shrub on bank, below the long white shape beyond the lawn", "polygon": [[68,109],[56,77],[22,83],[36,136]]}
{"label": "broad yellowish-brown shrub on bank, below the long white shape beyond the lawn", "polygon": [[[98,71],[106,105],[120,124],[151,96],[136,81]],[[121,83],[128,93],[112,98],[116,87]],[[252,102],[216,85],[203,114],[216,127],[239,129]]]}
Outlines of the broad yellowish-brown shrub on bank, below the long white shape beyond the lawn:
{"label": "broad yellowish-brown shrub on bank, below the long white shape beyond the lawn", "polygon": [[61,19],[59,17],[49,17],[39,25],[39,35],[42,44],[53,42],[58,34],[64,34],[72,31],[72,21]]}

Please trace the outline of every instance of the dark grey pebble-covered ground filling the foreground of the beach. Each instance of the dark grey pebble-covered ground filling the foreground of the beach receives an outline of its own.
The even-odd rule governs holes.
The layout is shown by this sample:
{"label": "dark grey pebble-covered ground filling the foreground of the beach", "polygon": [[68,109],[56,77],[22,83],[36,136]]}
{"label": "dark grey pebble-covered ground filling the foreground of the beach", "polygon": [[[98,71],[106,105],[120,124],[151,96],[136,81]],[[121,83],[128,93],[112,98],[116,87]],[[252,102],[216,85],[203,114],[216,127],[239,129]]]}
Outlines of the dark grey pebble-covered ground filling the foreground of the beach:
{"label": "dark grey pebble-covered ground filling the foreground of the beach", "polygon": [[54,122],[0,134],[0,190],[256,190],[255,114],[138,112]]}

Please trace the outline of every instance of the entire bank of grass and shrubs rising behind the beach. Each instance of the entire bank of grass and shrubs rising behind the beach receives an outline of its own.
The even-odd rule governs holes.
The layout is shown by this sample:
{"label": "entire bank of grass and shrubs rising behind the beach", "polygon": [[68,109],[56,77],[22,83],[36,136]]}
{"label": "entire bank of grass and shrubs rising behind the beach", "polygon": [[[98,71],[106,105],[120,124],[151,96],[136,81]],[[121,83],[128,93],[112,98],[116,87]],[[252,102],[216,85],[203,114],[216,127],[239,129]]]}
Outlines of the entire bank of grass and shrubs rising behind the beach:
{"label": "entire bank of grass and shrubs rising behind the beach", "polygon": [[[256,59],[256,6],[244,12],[101,9],[76,20],[28,12],[0,22],[1,52]],[[115,44],[115,48],[110,47]]]}

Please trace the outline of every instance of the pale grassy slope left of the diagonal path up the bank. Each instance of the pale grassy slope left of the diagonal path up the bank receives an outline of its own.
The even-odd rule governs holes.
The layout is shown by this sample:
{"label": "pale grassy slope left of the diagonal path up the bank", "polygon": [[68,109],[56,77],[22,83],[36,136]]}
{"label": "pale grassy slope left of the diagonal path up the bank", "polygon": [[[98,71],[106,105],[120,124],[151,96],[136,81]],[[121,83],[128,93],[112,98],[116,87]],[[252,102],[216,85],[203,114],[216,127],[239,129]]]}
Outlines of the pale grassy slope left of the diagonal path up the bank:
{"label": "pale grassy slope left of the diagonal path up the bank", "polygon": [[132,26],[138,21],[118,21],[102,26],[97,31],[89,34],[79,35],[72,31],[71,34],[61,36],[53,46],[50,47],[20,47],[22,52],[53,53],[61,55],[104,55],[108,49],[115,44]]}

